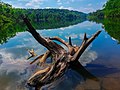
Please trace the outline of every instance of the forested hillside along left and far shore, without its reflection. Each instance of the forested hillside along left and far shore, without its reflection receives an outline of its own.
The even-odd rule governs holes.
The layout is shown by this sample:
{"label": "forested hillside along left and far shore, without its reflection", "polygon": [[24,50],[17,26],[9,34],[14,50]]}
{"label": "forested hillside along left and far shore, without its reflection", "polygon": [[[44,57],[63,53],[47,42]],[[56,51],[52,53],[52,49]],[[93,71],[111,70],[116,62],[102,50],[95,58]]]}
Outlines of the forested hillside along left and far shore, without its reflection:
{"label": "forested hillside along left and far shore, without its reflection", "polygon": [[77,11],[69,11],[66,9],[20,9],[12,8],[11,5],[0,2],[0,18],[2,23],[9,21],[20,21],[20,15],[29,16],[32,21],[36,22],[56,22],[71,21],[74,19],[85,19],[86,14]]}

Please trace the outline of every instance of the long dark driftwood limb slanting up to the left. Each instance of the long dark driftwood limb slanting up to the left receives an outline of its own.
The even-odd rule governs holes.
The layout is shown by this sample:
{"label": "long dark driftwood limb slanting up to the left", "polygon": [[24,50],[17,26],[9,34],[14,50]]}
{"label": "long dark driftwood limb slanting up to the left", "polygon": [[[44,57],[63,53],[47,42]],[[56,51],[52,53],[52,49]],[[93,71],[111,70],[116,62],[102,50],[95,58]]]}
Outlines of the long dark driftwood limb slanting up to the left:
{"label": "long dark driftwood limb slanting up to the left", "polygon": [[[55,42],[52,42],[49,38],[44,38],[37,33],[37,31],[34,29],[34,27],[31,25],[29,20],[27,18],[23,17],[23,20],[25,24],[28,27],[28,31],[33,35],[33,37],[43,46],[45,46],[50,52],[56,54],[56,53],[64,53],[65,50],[62,46],[56,44]],[[58,49],[59,48],[59,49]]]}

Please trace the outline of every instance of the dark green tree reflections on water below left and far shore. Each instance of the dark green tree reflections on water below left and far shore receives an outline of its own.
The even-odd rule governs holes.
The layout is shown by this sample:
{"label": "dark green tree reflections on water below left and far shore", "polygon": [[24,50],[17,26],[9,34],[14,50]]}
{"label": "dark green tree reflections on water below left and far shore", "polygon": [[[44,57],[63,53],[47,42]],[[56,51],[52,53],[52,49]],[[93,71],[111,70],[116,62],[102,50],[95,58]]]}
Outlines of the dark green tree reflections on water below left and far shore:
{"label": "dark green tree reflections on water below left and far shore", "polygon": [[[83,22],[84,20],[68,20],[68,21],[46,21],[46,22],[32,22],[32,24],[39,30],[41,29],[54,29],[54,28],[60,28],[60,27],[67,27],[69,25],[74,25],[80,22]],[[9,38],[16,35],[17,32],[23,32],[25,30],[25,26],[23,23],[4,23],[0,25],[0,43],[6,42]]]}

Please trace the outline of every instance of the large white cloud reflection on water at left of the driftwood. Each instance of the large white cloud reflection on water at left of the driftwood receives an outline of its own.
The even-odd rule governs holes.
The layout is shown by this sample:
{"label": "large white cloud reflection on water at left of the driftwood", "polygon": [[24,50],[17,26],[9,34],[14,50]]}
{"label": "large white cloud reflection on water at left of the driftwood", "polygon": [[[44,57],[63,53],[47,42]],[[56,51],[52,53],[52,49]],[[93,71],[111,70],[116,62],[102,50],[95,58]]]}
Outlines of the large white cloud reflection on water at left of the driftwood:
{"label": "large white cloud reflection on water at left of the driftwood", "polygon": [[[6,71],[6,74],[10,72],[18,72],[18,74],[24,72],[24,70],[28,67],[29,62],[25,60],[25,58],[14,58],[12,53],[6,53],[5,50],[2,50],[1,55],[1,65],[0,71]],[[2,72],[1,72],[2,74]]]}

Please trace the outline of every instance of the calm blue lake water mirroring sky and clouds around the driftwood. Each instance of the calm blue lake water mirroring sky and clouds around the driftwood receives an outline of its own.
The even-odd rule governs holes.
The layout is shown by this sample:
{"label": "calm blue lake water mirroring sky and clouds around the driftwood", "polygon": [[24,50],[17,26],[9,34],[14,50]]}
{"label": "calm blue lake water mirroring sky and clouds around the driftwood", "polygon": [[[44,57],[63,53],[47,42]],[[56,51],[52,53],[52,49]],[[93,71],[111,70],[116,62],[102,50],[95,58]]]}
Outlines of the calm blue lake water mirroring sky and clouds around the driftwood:
{"label": "calm blue lake water mirroring sky and clouds around the driftwood", "polygon": [[[73,44],[80,45],[85,32],[90,37],[97,30],[102,30],[102,33],[87,48],[79,61],[100,81],[85,80],[78,73],[69,70],[61,82],[50,87],[52,90],[120,90],[120,45],[107,34],[102,24],[84,21],[65,28],[38,32],[42,36],[58,36],[65,41],[71,36]],[[46,51],[28,32],[19,32],[0,45],[0,90],[33,90],[26,85],[26,80],[35,68],[26,60],[29,56],[27,49],[32,48],[38,55]]]}

